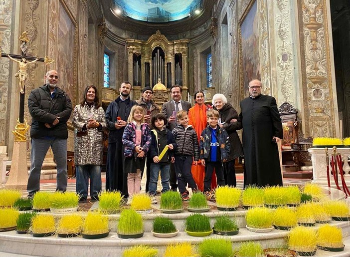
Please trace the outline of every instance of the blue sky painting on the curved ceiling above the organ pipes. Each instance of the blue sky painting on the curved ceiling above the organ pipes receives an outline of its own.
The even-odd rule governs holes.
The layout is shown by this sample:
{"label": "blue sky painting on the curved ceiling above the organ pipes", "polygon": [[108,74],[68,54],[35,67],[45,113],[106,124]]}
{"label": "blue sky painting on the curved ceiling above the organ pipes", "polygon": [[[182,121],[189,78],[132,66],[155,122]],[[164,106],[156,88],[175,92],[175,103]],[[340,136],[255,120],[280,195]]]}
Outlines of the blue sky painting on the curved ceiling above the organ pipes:
{"label": "blue sky painting on the curved ceiling above the organ pipes", "polygon": [[164,23],[199,15],[202,0],[114,0],[115,15]]}

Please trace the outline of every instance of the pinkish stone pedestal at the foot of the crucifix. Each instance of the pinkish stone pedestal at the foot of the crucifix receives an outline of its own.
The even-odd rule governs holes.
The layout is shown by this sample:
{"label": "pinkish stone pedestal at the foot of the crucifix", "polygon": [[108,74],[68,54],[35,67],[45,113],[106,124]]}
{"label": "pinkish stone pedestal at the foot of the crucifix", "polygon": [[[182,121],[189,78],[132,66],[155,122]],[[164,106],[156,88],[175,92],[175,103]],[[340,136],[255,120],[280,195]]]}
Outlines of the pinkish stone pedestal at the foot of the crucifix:
{"label": "pinkish stone pedestal at the foot of the crucifix", "polygon": [[5,188],[13,188],[19,190],[25,190],[27,188],[28,168],[26,161],[26,151],[26,142],[14,142],[12,165]]}

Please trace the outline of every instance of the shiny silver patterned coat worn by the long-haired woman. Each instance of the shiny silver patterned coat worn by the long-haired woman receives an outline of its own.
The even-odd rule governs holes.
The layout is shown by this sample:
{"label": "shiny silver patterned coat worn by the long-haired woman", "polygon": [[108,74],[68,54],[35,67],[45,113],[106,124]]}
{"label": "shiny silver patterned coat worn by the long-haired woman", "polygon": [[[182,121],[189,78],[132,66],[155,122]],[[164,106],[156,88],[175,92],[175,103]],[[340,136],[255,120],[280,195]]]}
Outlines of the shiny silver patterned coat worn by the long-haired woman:
{"label": "shiny silver patterned coat worn by the long-haired woman", "polygon": [[[77,136],[77,133],[83,131],[83,127],[87,124],[88,119],[93,118],[102,125],[102,129],[90,128],[86,135]],[[101,165],[103,156],[103,132],[107,127],[105,120],[105,111],[102,107],[98,109],[95,105],[91,108],[85,104],[74,107],[73,112],[74,130],[74,163],[75,165]]]}

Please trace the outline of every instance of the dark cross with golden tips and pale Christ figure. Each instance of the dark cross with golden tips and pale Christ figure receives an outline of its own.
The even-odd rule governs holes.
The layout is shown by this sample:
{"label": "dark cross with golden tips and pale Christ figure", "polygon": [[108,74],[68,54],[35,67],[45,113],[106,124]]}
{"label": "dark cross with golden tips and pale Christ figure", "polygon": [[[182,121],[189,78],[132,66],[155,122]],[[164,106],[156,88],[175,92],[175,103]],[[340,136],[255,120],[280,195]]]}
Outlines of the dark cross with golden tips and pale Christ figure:
{"label": "dark cross with golden tips and pale Christ figure", "polygon": [[[25,80],[28,77],[28,64],[34,63],[36,61],[42,61],[46,65],[51,64],[54,62],[53,59],[51,59],[48,56],[45,56],[44,58],[39,58],[39,57],[32,57],[32,56],[27,56],[27,42],[29,42],[29,38],[27,35],[27,32],[24,31],[20,37],[20,49],[21,49],[21,55],[17,54],[9,54],[9,53],[1,53],[1,57],[6,57],[11,59],[14,62],[17,62],[19,65],[19,70],[17,73],[14,75],[15,77],[18,78],[19,80],[19,88],[20,88],[20,98],[19,98],[19,123],[24,122],[24,92],[25,92]],[[18,60],[17,60],[18,59]],[[29,60],[29,62],[28,62]]]}

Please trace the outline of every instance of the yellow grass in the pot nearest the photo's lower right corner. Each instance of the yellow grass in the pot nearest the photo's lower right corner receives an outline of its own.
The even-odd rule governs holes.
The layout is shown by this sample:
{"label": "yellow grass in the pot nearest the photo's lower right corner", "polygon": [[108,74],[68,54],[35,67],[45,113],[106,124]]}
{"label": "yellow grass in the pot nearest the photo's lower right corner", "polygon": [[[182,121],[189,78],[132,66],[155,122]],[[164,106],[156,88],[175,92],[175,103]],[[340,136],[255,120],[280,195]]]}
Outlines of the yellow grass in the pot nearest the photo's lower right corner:
{"label": "yellow grass in the pot nearest the photo's lower right corner", "polygon": [[318,245],[321,247],[343,247],[342,229],[325,224],[317,230]]}

